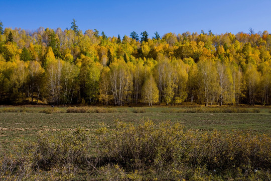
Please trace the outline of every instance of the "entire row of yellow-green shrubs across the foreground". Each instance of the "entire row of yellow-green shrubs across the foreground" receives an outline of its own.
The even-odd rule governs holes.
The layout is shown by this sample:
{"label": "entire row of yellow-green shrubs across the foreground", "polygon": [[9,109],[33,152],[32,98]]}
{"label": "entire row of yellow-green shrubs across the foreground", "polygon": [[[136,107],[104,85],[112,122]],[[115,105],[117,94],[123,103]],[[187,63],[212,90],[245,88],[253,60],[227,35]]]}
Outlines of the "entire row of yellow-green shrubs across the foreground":
{"label": "entire row of yellow-green shrubs across the foreground", "polygon": [[93,132],[41,134],[2,151],[4,180],[268,180],[271,138],[242,132],[184,131],[150,120]]}

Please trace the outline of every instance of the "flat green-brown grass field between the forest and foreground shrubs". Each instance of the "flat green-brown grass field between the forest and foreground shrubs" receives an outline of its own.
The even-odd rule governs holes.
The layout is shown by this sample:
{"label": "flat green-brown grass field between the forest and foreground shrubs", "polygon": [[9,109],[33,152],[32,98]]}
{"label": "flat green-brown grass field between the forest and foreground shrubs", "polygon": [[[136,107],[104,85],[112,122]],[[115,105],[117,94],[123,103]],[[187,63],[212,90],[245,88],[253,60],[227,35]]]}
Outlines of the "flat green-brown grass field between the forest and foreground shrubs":
{"label": "flat green-brown grass field between the forest and foreground shrubs", "polygon": [[[50,110],[60,113],[50,113]],[[149,118],[155,123],[171,120],[181,123],[184,129],[209,131],[242,130],[271,135],[270,108],[257,108],[259,113],[217,113],[220,108],[152,107],[152,108],[101,108],[101,113],[67,113],[68,108],[0,108],[0,143],[8,146],[18,139],[34,140],[40,132],[84,128],[98,129],[105,124],[109,129],[114,120],[139,124]],[[197,113],[186,113],[187,110]],[[234,108],[235,109],[235,108]],[[255,108],[244,108],[253,110]],[[103,113],[108,112],[109,113]],[[219,111],[219,110],[218,110]]]}

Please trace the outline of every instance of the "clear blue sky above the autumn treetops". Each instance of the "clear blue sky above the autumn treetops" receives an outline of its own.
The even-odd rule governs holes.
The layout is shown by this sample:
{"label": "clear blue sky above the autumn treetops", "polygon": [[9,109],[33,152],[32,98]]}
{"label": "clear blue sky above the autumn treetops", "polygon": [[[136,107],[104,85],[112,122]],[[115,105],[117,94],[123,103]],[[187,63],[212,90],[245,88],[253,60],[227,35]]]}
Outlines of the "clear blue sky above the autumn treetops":
{"label": "clear blue sky above the autumn treetops", "polygon": [[107,36],[147,31],[154,36],[168,32],[255,32],[271,33],[271,0],[263,1],[12,1],[0,0],[0,21],[4,28],[62,30],[72,19],[79,29],[104,31]]}

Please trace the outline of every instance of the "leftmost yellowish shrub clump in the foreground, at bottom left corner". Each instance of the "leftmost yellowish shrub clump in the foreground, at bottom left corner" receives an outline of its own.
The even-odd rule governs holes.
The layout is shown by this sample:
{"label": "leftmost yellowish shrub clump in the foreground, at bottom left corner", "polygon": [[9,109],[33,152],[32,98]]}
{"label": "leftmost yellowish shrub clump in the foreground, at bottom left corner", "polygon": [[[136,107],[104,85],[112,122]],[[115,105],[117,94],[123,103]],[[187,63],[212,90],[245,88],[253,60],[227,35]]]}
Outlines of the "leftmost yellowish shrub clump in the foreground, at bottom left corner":
{"label": "leftmost yellowish shrub clump in the foreground, at bottom left corner", "polygon": [[[37,142],[19,142],[14,152],[0,157],[0,178],[5,180],[70,180],[87,164],[89,133],[78,129],[57,136],[46,132]],[[45,174],[46,172],[46,174]],[[31,178],[31,179],[30,179]]]}

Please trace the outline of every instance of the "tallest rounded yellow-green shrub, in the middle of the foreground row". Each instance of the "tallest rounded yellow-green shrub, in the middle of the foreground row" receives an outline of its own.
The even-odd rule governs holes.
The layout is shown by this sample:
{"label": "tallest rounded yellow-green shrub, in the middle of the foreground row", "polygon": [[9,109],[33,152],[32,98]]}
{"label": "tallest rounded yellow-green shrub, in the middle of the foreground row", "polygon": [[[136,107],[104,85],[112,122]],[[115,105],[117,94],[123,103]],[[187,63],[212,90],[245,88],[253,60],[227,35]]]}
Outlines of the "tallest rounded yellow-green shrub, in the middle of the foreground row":
{"label": "tallest rounded yellow-green shrub, in the middle of the foreground row", "polygon": [[183,149],[186,142],[183,136],[179,124],[165,122],[157,127],[151,120],[146,120],[135,127],[116,122],[112,134],[103,134],[99,143],[105,151],[102,155],[106,155],[108,160],[115,160],[126,168],[140,169],[168,164],[174,154],[183,154],[186,150]]}

